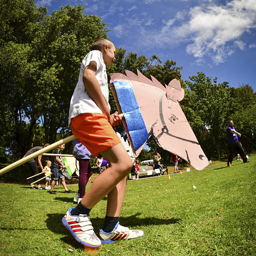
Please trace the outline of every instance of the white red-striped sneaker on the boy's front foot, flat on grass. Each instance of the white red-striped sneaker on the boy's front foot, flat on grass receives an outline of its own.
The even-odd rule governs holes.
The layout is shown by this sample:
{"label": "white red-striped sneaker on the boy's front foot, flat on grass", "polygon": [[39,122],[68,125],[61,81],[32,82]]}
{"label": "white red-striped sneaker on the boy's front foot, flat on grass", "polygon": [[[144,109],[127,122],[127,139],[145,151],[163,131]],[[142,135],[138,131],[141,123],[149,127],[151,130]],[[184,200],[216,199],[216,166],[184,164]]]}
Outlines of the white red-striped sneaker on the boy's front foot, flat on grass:
{"label": "white red-striped sneaker on the boy's front foot, flat on grass", "polygon": [[123,227],[116,223],[116,226],[112,230],[112,232],[106,233],[100,228],[99,237],[101,239],[102,244],[110,244],[115,242],[118,239],[136,239],[144,236],[144,232],[142,230],[130,230],[129,228]]}

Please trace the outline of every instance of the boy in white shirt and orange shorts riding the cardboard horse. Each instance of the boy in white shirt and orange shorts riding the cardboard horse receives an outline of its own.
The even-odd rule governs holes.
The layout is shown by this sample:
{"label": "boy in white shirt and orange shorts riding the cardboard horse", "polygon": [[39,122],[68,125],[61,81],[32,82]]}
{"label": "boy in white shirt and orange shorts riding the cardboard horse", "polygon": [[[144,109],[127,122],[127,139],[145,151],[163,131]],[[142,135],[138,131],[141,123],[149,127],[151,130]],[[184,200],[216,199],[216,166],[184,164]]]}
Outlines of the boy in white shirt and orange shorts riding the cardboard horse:
{"label": "boy in white shirt and orange shorts riding the cardboard horse", "polygon": [[[109,164],[92,183],[76,208],[70,208],[62,223],[81,244],[99,247],[118,239],[134,239],[142,230],[129,230],[119,224],[126,177],[132,162],[112,126],[120,124],[118,112],[110,115],[106,66],[115,60],[115,46],[106,39],[96,40],[82,61],[78,83],[70,101],[69,125],[72,133],[92,155],[104,156]],[[99,236],[94,233],[89,213],[108,195],[106,217]]]}

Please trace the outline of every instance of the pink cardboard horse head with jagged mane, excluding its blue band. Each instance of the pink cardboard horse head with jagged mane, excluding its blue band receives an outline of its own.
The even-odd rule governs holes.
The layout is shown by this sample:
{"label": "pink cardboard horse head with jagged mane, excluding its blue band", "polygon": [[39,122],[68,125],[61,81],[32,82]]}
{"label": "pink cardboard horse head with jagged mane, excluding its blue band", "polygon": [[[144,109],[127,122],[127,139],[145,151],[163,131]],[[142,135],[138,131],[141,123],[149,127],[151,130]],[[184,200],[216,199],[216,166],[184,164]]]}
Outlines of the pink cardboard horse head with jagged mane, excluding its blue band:
{"label": "pink cardboard horse head with jagged mane, excluding its blue band", "polygon": [[[177,154],[197,170],[204,169],[208,166],[208,159],[178,103],[184,98],[184,89],[181,88],[180,81],[174,79],[164,87],[153,76],[151,81],[140,71],[137,70],[137,73],[138,76],[126,70],[127,76],[119,73],[110,74],[111,90],[118,112],[122,113],[122,108],[113,82],[127,82],[138,103],[148,138],[153,136],[161,148]],[[129,104],[129,99],[127,99],[127,104]],[[123,119],[122,122],[132,146],[133,142],[129,136],[126,121]],[[146,141],[138,150],[134,150],[132,146],[135,157],[140,154],[145,143]]]}

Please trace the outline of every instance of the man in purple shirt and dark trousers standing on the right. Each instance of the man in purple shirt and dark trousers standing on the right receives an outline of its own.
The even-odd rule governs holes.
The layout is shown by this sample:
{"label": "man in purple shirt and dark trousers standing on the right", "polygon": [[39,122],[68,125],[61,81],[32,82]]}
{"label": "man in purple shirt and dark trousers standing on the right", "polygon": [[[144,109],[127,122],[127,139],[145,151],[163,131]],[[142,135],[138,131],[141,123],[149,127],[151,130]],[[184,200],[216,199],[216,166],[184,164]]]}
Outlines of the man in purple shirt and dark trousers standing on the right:
{"label": "man in purple shirt and dark trousers standing on the right", "polygon": [[250,161],[247,161],[246,155],[244,153],[242,145],[238,141],[237,136],[241,137],[241,134],[235,130],[233,120],[230,120],[229,126],[227,128],[227,140],[228,140],[228,150],[229,150],[228,163],[227,163],[228,166],[229,164],[230,165],[232,164],[235,151],[237,151],[240,154],[244,163],[250,162]]}

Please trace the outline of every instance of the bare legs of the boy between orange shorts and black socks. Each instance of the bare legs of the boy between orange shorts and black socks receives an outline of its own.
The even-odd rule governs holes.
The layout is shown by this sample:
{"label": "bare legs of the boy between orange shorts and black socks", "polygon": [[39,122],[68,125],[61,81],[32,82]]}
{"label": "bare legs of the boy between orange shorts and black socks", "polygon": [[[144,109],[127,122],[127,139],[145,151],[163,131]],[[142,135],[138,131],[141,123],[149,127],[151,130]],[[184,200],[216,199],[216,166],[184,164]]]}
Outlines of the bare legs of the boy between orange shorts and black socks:
{"label": "bare legs of the boy between orange shorts and black socks", "polygon": [[116,206],[112,212],[115,216],[118,216],[126,189],[126,176],[132,168],[132,161],[121,143],[100,154],[106,158],[110,167],[94,180],[82,198],[81,203],[86,208],[91,209],[109,194],[108,209],[110,205],[115,204]]}

